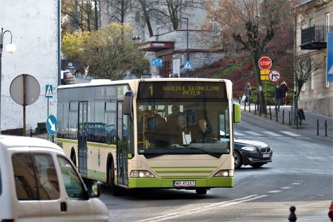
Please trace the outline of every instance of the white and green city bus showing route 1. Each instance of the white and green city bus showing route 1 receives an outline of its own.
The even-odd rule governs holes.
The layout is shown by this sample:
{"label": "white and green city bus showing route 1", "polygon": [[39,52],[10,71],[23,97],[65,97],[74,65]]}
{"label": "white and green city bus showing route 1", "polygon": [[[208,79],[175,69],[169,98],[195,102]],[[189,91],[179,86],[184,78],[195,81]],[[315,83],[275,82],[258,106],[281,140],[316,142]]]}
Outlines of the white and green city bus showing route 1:
{"label": "white and green city bus showing route 1", "polygon": [[100,79],[58,87],[57,144],[83,177],[107,183],[114,195],[121,188],[233,187],[238,122],[230,80]]}

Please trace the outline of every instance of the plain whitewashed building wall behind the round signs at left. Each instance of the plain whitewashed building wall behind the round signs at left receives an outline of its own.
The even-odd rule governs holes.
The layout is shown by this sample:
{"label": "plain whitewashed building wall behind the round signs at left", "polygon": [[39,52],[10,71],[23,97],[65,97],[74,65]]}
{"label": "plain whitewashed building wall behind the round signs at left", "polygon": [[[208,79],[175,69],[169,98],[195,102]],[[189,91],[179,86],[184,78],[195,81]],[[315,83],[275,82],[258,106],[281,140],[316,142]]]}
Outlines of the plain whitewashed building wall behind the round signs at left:
{"label": "plain whitewashed building wall behind the round signs at left", "polygon": [[[59,5],[58,5],[59,4]],[[47,119],[45,85],[53,85],[49,113],[57,112],[57,86],[59,73],[59,22],[60,1],[7,1],[0,0],[0,28],[10,30],[17,49],[14,54],[6,52],[11,36],[4,36],[2,56],[1,130],[23,128],[23,106],[10,95],[13,79],[21,74],[30,74],[39,82],[40,96],[26,107],[26,129],[35,129],[37,123]]]}

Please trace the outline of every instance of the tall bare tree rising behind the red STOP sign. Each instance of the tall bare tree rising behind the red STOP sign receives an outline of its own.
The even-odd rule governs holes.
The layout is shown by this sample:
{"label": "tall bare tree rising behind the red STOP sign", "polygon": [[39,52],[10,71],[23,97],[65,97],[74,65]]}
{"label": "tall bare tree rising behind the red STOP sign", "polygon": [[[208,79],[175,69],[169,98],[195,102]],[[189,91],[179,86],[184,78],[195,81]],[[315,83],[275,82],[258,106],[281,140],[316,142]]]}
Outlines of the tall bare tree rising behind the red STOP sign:
{"label": "tall bare tree rising behind the red STOP sign", "polygon": [[[265,104],[258,60],[267,52],[267,45],[274,35],[288,24],[292,1],[287,0],[209,0],[206,7],[210,17],[220,25],[224,49],[235,47],[228,40],[240,44],[242,50],[249,53],[257,86],[259,102]],[[217,4],[216,4],[217,3]],[[237,48],[237,47],[236,47]],[[234,48],[235,49],[235,48]],[[265,106],[261,105],[262,112]]]}

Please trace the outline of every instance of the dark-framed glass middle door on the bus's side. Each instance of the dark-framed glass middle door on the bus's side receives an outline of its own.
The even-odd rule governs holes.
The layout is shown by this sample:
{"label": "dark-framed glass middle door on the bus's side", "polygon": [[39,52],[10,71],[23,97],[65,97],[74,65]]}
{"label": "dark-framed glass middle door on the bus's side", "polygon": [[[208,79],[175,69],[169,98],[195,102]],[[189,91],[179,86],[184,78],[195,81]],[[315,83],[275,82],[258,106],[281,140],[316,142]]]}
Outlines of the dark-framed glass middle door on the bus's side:
{"label": "dark-framed glass middle door on the bus's side", "polygon": [[79,102],[79,173],[87,176],[87,102]]}

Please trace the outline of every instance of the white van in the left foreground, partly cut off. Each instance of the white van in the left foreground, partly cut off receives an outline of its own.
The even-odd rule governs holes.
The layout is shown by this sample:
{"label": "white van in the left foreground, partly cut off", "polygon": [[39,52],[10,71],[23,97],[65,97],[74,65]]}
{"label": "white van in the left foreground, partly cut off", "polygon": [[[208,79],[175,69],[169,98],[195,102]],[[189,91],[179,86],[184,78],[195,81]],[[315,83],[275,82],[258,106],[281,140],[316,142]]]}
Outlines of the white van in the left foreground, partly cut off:
{"label": "white van in the left foreground, partly cut off", "polygon": [[100,187],[87,189],[57,145],[0,135],[0,221],[109,221]]}

